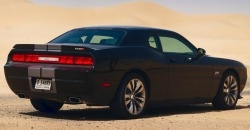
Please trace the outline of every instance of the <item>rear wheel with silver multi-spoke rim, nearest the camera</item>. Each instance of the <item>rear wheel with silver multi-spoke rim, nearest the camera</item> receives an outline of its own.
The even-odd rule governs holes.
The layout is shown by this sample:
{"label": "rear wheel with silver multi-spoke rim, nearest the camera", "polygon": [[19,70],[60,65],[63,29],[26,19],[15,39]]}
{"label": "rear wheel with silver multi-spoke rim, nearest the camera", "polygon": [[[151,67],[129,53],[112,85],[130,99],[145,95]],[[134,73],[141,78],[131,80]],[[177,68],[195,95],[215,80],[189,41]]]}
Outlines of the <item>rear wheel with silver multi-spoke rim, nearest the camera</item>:
{"label": "rear wheel with silver multi-spoke rim, nearest the camera", "polygon": [[143,78],[135,73],[122,80],[110,107],[121,118],[138,118],[146,108],[148,90]]}

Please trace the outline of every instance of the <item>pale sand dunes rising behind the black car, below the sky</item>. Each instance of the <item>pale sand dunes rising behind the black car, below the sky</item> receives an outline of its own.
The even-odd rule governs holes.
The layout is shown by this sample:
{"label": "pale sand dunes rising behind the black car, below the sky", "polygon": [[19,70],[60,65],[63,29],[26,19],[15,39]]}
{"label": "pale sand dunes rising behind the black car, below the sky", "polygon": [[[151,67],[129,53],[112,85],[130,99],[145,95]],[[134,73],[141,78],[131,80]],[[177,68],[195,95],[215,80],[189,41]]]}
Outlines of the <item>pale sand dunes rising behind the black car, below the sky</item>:
{"label": "pale sand dunes rising behind the black car, below the sky", "polygon": [[103,8],[65,8],[28,0],[0,0],[0,52],[5,59],[17,43],[46,43],[76,27],[138,25],[177,31],[210,55],[239,59],[250,65],[250,17],[236,14],[190,15],[151,2]]}

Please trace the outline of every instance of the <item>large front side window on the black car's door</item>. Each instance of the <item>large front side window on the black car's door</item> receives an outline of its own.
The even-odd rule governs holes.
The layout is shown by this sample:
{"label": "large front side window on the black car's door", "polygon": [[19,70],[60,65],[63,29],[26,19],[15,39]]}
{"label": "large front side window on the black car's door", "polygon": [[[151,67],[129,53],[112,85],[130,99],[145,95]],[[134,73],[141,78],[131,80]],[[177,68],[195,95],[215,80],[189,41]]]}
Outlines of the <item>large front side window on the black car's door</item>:
{"label": "large front side window on the black car's door", "polygon": [[164,53],[193,54],[193,50],[178,39],[159,36]]}

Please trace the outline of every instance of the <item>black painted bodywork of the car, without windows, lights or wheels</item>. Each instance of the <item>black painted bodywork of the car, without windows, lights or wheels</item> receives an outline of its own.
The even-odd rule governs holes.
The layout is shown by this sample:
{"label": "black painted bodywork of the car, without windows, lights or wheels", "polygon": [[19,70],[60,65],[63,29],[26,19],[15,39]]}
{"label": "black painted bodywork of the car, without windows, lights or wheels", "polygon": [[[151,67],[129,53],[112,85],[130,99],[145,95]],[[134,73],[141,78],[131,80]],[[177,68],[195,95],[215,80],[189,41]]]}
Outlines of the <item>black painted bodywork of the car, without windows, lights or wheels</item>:
{"label": "black painted bodywork of the car, without windows, lights or wheels", "polygon": [[[83,28],[85,29],[85,28]],[[88,29],[88,28],[87,28]],[[149,89],[149,105],[211,102],[216,95],[220,79],[227,70],[234,71],[242,91],[246,83],[246,68],[237,61],[197,54],[164,54],[145,44],[149,35],[171,35],[186,41],[181,35],[161,29],[143,27],[91,27],[91,29],[123,30],[122,42],[116,46],[90,44],[16,45],[4,66],[6,80],[14,93],[24,93],[26,98],[44,98],[69,103],[68,97],[79,97],[87,105],[109,105],[122,79],[129,73],[140,74]],[[84,48],[84,51],[75,48]],[[197,49],[193,46],[194,49]],[[39,50],[39,51],[36,51]],[[13,53],[44,53],[92,55],[93,68],[55,64],[14,63]],[[28,67],[53,68],[56,91],[36,91],[30,81],[48,77],[29,76]],[[45,69],[46,70],[46,69]],[[219,72],[215,75],[215,72]],[[66,72],[66,73],[65,73]],[[42,73],[42,72],[41,72]],[[110,87],[101,87],[103,82]]]}

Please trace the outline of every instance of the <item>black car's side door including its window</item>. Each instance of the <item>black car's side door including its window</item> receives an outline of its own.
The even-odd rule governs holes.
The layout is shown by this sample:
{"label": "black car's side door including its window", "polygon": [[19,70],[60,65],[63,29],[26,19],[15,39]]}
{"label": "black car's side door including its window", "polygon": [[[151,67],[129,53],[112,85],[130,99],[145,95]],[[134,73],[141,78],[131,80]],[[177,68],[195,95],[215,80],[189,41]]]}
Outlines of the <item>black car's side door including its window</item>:
{"label": "black car's side door including its window", "polygon": [[197,49],[178,34],[159,34],[158,38],[169,66],[167,99],[207,97],[212,67],[206,57],[197,58]]}

